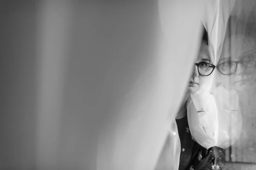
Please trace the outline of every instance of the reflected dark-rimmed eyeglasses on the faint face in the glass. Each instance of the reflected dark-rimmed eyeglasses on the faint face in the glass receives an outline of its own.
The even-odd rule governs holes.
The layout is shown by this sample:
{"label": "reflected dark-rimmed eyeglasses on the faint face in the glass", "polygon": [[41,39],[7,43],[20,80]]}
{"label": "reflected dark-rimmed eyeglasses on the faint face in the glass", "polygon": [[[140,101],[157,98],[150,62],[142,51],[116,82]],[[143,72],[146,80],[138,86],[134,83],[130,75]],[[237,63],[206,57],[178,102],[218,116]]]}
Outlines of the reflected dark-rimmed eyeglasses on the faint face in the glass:
{"label": "reflected dark-rimmed eyeglasses on the faint face in the glass", "polygon": [[248,55],[239,61],[232,61],[231,59],[224,61],[217,65],[218,71],[223,75],[231,75],[236,72],[238,63],[241,63],[247,68],[256,66],[256,53],[253,55]]}

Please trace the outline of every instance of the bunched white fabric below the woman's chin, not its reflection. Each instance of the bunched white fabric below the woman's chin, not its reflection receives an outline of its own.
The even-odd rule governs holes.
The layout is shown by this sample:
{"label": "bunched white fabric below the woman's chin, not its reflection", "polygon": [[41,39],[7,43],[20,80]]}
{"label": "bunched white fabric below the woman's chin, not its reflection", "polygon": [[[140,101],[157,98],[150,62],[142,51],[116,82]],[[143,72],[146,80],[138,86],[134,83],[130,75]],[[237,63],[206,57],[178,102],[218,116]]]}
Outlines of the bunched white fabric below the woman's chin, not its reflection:
{"label": "bunched white fabric below the woman's chin, not its reflection", "polygon": [[209,149],[218,142],[218,111],[209,92],[196,92],[187,101],[189,129],[201,146]]}

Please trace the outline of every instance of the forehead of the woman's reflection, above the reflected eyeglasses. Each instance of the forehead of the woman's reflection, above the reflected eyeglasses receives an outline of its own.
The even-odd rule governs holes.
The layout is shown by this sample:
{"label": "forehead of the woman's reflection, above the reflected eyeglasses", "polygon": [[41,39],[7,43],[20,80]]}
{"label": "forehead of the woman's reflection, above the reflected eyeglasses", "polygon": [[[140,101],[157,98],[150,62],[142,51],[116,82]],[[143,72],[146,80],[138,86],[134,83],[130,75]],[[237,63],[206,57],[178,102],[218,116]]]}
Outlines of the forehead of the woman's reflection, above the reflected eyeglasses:
{"label": "forehead of the woman's reflection, above the reflected eyeglasses", "polygon": [[231,57],[232,60],[238,61],[244,55],[255,51],[256,42],[253,38],[243,35],[233,35],[224,40],[220,59]]}

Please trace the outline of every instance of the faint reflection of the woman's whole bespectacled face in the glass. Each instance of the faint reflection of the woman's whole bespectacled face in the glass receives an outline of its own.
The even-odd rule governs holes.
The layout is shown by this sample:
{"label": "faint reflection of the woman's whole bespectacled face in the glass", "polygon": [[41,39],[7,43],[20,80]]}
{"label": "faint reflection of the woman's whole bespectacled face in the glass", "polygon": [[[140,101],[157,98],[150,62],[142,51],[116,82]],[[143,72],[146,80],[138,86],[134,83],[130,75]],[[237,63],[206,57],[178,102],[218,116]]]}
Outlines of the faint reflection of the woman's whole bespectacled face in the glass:
{"label": "faint reflection of the woman's whole bespectacled face in the glass", "polygon": [[226,89],[244,92],[255,87],[256,43],[244,35],[228,35],[217,64],[221,83]]}

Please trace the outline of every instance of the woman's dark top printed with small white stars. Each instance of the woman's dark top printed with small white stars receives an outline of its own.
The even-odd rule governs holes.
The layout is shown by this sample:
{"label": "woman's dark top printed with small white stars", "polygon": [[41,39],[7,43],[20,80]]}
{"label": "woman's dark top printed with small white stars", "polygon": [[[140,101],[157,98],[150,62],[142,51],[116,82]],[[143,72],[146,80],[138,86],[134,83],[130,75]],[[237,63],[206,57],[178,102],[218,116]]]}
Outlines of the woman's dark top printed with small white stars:
{"label": "woman's dark top printed with small white stars", "polygon": [[224,150],[218,147],[207,150],[196,143],[189,131],[187,116],[176,119],[176,123],[181,144],[179,170],[222,170]]}

